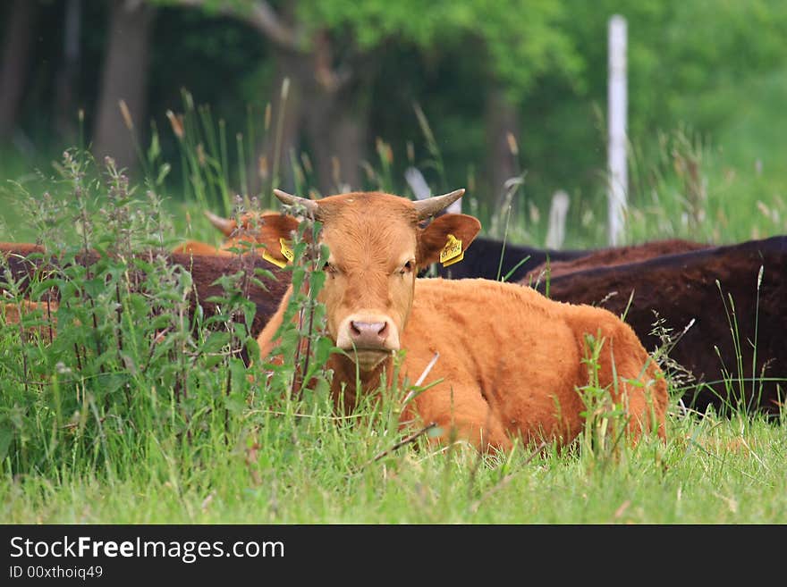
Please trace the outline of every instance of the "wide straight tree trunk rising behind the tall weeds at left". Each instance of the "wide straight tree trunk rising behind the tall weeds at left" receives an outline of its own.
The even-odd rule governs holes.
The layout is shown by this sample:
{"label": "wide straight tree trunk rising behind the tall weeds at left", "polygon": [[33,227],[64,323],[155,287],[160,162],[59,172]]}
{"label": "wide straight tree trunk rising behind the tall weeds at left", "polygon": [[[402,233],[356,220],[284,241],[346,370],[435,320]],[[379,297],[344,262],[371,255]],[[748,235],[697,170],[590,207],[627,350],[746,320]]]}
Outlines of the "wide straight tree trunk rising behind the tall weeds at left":
{"label": "wide straight tree trunk rising behind the tall weeds at left", "polygon": [[137,148],[142,148],[140,125],[147,116],[148,37],[154,14],[155,9],[142,0],[114,0],[109,16],[93,153],[99,159],[113,157],[129,173],[140,164]]}

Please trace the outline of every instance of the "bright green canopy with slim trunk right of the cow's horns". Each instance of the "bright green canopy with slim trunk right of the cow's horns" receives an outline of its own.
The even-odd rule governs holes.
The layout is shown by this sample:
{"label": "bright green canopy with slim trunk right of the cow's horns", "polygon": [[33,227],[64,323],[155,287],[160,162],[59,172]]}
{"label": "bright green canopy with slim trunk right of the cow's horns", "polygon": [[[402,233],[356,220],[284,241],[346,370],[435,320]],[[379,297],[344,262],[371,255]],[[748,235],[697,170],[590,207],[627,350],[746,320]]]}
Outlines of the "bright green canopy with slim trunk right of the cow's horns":
{"label": "bright green canopy with slim trunk right of the cow's horns", "polygon": [[477,66],[473,77],[483,88],[487,126],[483,175],[492,199],[503,191],[504,180],[520,173],[513,151],[520,137],[521,98],[546,71],[572,79],[582,69],[562,28],[570,14],[554,0],[325,0],[309,8],[306,21],[349,33],[356,50],[372,53],[393,39],[418,47],[422,55],[439,52]]}

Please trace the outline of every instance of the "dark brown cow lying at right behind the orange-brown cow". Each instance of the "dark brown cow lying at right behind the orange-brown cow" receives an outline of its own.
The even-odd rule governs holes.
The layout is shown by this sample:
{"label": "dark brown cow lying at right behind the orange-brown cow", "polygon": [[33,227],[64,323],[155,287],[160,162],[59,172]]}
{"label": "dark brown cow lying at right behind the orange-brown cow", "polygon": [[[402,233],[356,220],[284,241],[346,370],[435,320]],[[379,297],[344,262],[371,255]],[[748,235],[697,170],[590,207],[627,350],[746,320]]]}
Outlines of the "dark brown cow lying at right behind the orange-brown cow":
{"label": "dark brown cow lying at right behind the orange-brown cow", "polygon": [[787,237],[554,275],[549,297],[625,314],[650,350],[660,344],[652,333],[656,316],[674,335],[691,324],[669,357],[700,383],[683,396],[698,410],[742,405],[775,415],[783,409]]}

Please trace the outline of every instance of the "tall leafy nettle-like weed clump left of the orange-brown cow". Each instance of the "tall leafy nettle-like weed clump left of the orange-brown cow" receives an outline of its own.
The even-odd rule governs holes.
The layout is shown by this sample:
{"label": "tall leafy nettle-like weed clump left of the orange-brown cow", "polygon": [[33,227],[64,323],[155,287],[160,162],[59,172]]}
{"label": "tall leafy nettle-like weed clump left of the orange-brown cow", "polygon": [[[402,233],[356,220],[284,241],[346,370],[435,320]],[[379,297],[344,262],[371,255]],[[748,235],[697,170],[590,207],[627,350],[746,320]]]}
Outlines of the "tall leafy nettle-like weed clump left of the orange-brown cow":
{"label": "tall leafy nettle-like weed clump left of the orange-brown cow", "polygon": [[[7,301],[57,302],[0,325],[7,471],[111,476],[156,452],[151,440],[180,451],[225,438],[250,392],[239,352],[254,346],[254,306],[238,295],[241,276],[206,300],[220,314],[192,313],[190,273],[162,255],[171,228],[157,197],[134,197],[111,160],[99,177],[66,152],[63,172],[71,198],[44,198],[36,216],[57,263],[30,281],[4,273]],[[88,251],[100,255],[86,263]]]}

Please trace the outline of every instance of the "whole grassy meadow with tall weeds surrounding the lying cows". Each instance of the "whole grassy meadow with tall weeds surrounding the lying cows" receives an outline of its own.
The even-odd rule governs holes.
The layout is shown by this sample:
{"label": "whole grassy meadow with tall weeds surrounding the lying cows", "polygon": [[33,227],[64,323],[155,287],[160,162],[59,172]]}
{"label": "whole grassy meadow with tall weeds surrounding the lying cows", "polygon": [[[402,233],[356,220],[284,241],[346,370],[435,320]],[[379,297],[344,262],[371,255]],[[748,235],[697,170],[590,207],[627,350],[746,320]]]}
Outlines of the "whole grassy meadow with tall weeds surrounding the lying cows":
{"label": "whole grassy meadow with tall weeds surrounding the lying cows", "polygon": [[[272,204],[234,197],[227,141],[220,133],[211,138],[213,129],[204,112],[186,117],[185,194],[177,199],[167,195],[169,167],[155,142],[140,150],[146,173],[136,184],[111,160],[95,162],[80,148],[66,151],[54,172],[6,182],[4,240],[37,240],[66,261],[86,248],[111,255],[29,284],[4,272],[8,299],[20,299],[26,287],[33,299],[52,288],[61,298],[52,340],[46,310],[0,324],[0,521],[787,523],[783,418],[735,409],[698,414],[679,402],[681,382],[670,382],[666,443],[620,442],[611,431],[621,415],[588,401],[587,432],[567,449],[519,444],[508,454],[479,455],[461,443],[438,449],[426,429],[398,428],[402,398],[415,385],[350,416],[334,414],[324,368],[330,341],[310,298],[291,306],[314,318],[283,336],[293,361],[244,365],[239,351],[258,356],[258,348],[243,276],[224,282],[225,295],[215,300],[221,314],[191,317],[190,274],[155,255],[137,256],[184,238],[216,242],[203,209],[240,214]],[[683,131],[665,135],[661,147],[658,157],[635,162],[627,239],[732,242],[783,232],[783,199],[768,197],[778,189],[752,188],[749,176],[725,171],[713,148]],[[369,168],[372,187],[406,195],[386,166],[384,143],[379,155]],[[307,193],[308,163],[292,157],[290,164],[299,193]],[[748,195],[724,197],[730,191]],[[503,231],[495,236],[540,241],[546,214],[526,200],[515,205],[516,194],[495,212],[470,196],[465,210]],[[598,209],[573,213],[571,245],[598,246]],[[302,243],[295,249],[305,251]],[[319,266],[304,256],[292,267],[293,282],[318,289]],[[312,343],[308,355],[295,351],[303,339]],[[301,389],[298,369],[316,385]]]}

